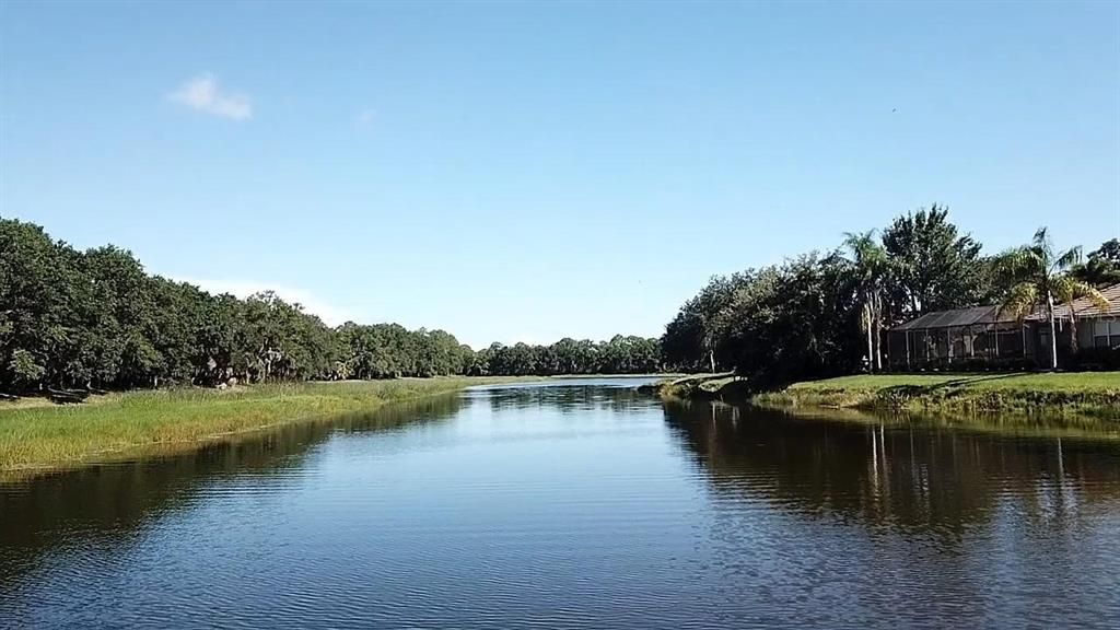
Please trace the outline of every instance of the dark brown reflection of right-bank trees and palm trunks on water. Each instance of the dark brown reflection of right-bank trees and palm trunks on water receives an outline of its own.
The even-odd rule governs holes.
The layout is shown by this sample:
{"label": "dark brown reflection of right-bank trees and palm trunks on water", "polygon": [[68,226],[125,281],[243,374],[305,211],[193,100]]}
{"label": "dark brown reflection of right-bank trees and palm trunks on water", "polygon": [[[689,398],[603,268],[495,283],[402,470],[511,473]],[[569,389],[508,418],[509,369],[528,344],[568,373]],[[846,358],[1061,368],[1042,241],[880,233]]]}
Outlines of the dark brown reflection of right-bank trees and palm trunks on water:
{"label": "dark brown reflection of right-bank trees and palm trunks on water", "polygon": [[868,526],[960,535],[1008,501],[1062,520],[1118,500],[1114,442],[802,418],[720,402],[666,402],[670,427],[730,499],[762,498]]}

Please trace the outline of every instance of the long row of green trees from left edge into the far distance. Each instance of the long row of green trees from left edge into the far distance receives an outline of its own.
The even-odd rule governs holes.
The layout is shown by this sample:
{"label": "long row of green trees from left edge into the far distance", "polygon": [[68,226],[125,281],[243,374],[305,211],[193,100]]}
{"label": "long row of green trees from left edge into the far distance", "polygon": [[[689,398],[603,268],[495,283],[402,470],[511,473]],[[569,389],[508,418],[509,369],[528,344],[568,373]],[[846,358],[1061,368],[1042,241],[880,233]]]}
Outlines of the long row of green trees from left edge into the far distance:
{"label": "long row of green trees from left edge into the far distance", "polygon": [[654,372],[656,339],[498,343],[398,324],[327,326],[264,291],[213,295],[149,275],[129,251],[80,251],[0,217],[0,392],[445,374]]}

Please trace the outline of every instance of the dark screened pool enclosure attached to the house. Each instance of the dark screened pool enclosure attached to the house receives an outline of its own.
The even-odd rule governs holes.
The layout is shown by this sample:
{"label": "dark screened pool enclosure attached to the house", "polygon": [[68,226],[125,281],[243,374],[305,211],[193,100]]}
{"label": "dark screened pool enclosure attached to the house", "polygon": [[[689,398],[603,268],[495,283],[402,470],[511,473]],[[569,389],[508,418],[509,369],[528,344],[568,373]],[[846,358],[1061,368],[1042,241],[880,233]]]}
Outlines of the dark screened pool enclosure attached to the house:
{"label": "dark screened pool enclosure attached to the house", "polygon": [[1035,335],[1033,322],[1000,314],[997,306],[939,311],[890,328],[887,355],[893,370],[1032,360]]}

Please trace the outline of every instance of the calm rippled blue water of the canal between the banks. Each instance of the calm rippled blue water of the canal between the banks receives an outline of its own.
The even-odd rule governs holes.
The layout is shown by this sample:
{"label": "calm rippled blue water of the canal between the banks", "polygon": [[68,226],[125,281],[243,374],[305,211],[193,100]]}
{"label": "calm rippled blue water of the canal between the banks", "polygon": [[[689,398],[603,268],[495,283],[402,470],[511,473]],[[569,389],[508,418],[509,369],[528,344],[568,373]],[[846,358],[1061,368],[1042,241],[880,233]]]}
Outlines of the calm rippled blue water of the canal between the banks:
{"label": "calm rippled blue water of the canal between the banks", "polygon": [[0,487],[0,627],[1120,628],[1116,442],[633,385]]}

